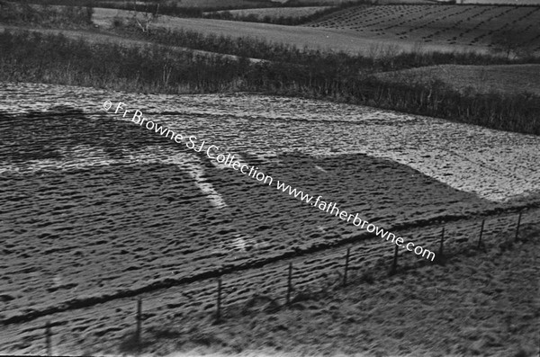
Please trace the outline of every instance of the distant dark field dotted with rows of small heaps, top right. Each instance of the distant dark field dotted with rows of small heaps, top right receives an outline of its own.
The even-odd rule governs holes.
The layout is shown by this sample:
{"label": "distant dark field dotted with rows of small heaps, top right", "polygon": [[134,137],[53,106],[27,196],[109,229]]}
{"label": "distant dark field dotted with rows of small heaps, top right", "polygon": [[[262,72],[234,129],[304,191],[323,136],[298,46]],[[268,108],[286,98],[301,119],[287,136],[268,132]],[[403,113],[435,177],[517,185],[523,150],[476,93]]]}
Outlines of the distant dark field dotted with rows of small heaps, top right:
{"label": "distant dark field dotted with rows of small heaps, top right", "polygon": [[491,36],[516,31],[523,43],[540,50],[540,6],[380,5],[358,6],[309,26],[357,33],[359,37],[490,47]]}

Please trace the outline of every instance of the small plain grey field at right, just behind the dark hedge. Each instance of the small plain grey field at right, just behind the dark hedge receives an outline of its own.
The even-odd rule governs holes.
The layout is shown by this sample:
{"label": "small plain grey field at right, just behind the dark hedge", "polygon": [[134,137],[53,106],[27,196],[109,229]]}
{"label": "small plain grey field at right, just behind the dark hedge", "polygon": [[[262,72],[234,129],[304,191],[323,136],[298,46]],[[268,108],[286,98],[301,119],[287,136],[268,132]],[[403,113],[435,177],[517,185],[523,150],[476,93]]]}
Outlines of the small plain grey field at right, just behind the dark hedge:
{"label": "small plain grey field at right, just behind the dark hedge", "polygon": [[440,79],[459,91],[467,87],[480,93],[491,91],[504,93],[528,92],[540,95],[540,65],[506,66],[456,66],[413,68],[377,76],[392,81],[427,82]]}

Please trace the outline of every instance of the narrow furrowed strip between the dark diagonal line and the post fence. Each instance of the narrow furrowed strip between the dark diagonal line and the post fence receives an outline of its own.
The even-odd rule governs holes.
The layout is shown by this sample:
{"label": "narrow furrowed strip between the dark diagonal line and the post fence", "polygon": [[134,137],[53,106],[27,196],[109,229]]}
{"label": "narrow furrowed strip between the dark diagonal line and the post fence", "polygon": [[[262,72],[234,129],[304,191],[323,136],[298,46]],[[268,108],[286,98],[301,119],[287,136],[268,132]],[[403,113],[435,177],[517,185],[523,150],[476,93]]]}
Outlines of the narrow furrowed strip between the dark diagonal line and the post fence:
{"label": "narrow furrowed strip between the dark diagonal line and the post fence", "polygon": [[[521,220],[521,232],[539,228],[540,210],[527,210]],[[482,241],[486,246],[500,245],[513,240],[517,215],[502,214],[485,218]],[[464,219],[446,224],[445,253],[454,254],[475,247],[480,234],[481,219]],[[398,232],[402,237],[414,237],[418,245],[438,250],[441,225],[411,228]],[[349,281],[362,280],[364,273],[383,279],[392,265],[393,245],[374,238],[352,245],[349,260]],[[294,257],[285,261],[269,263],[259,269],[244,272],[230,272],[220,275],[222,281],[221,301],[223,316],[234,317],[249,307],[249,301],[258,297],[273,301],[276,307],[283,306],[287,293],[288,264],[293,263],[292,299],[305,299],[335,287],[342,282],[345,247],[329,249],[324,253]],[[478,253],[482,254],[482,253]],[[421,257],[400,251],[399,269],[410,269],[427,264]],[[357,282],[356,282],[357,283]],[[144,326],[163,326],[179,319],[188,323],[193,319],[212,319],[216,309],[217,280],[207,279],[139,295],[143,299]],[[304,297],[304,298],[302,298]],[[128,332],[133,330],[134,299],[115,299],[90,308],[63,311],[39,317],[24,324],[10,326],[9,333],[0,333],[0,344],[5,351],[36,352],[42,327],[52,321],[55,337],[65,341],[66,351],[77,351],[91,346],[107,334],[110,346],[118,344]],[[13,338],[10,340],[9,338]],[[9,344],[7,344],[9,342]],[[82,345],[78,345],[81,344]]]}

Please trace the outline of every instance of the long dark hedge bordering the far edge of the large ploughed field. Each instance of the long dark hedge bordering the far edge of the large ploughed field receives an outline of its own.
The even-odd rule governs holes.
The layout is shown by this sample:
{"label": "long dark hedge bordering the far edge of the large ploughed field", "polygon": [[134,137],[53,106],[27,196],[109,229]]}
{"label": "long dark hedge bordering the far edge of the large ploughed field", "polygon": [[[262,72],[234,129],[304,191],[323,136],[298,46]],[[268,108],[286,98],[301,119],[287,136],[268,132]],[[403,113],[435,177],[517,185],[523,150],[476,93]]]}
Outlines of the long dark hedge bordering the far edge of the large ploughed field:
{"label": "long dark hedge bordering the far edge of the large ploughed field", "polygon": [[[160,36],[164,35],[175,40],[171,32]],[[190,41],[192,45],[203,43],[218,49],[216,51],[230,49],[228,46],[235,44],[240,53],[251,50],[257,54],[256,41],[229,39],[223,44],[221,39],[195,32],[181,40]],[[242,48],[242,41],[247,41],[247,49]],[[30,32],[1,33],[0,49],[0,76],[5,81],[86,85],[131,92],[257,91],[302,95],[540,135],[539,96],[461,94],[440,81],[390,83],[361,72],[352,74],[354,58],[314,51],[302,53],[284,45],[260,50],[268,57],[282,51],[290,55],[292,62],[296,60],[302,65],[283,61],[252,62],[219,55],[198,56],[157,44],[143,49],[91,44],[85,40],[68,40],[62,35],[43,36]],[[394,60],[401,64],[399,57]],[[311,62],[304,62],[308,58]],[[365,63],[369,66],[368,61]]]}

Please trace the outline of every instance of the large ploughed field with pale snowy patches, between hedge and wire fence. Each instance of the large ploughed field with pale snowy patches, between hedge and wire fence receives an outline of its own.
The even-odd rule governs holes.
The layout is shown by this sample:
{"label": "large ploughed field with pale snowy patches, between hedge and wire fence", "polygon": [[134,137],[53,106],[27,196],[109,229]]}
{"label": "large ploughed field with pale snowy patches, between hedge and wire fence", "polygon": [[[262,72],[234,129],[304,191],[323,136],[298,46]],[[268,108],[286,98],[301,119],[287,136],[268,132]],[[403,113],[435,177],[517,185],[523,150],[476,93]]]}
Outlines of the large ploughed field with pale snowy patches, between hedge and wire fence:
{"label": "large ploughed field with pale snowy patches, between hedge and wire fence", "polygon": [[[154,95],[0,85],[0,352],[95,353],[133,328],[330,281],[393,245],[204,155],[118,120],[126,103],[184,135],[437,251],[537,227],[540,138],[372,108],[257,94]],[[400,252],[401,264],[421,258]],[[193,315],[194,314],[194,315]],[[201,315],[197,315],[201,314]],[[168,322],[167,322],[168,323]],[[104,350],[103,350],[104,351]]]}

